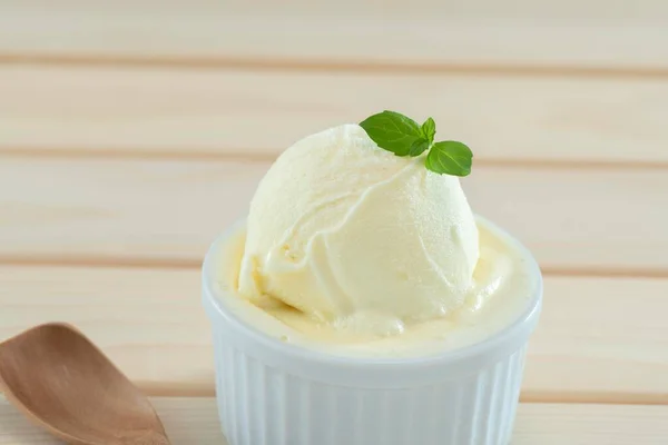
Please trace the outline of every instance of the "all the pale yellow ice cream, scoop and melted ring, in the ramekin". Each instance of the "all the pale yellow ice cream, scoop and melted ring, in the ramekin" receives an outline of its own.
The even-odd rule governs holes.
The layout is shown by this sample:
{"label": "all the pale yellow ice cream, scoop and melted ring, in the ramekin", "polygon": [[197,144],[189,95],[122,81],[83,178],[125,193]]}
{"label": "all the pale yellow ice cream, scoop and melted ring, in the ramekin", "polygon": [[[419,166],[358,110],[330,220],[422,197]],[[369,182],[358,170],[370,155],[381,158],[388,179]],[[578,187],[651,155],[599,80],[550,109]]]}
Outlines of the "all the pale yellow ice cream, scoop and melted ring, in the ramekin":
{"label": "all the pale yellow ice cream, scoop and melted ring, in the ramekin", "polygon": [[299,140],[267,171],[220,254],[220,290],[286,342],[425,354],[520,316],[536,285],[521,251],[477,221],[459,178],[344,125]]}

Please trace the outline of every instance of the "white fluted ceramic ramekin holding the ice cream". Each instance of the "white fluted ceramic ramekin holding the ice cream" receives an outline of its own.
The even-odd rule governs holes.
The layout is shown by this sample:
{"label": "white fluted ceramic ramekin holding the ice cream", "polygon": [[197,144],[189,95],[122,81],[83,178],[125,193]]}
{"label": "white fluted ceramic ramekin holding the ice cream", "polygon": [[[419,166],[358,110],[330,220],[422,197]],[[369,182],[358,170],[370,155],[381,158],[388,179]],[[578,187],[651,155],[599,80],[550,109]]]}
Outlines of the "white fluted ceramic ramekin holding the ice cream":
{"label": "white fluted ceramic ramekin holding the ice cream", "polygon": [[[512,325],[482,343],[418,358],[328,355],[239,319],[217,294],[210,247],[203,300],[212,320],[216,394],[229,445],[507,445],[542,280]],[[511,238],[509,238],[511,239]]]}

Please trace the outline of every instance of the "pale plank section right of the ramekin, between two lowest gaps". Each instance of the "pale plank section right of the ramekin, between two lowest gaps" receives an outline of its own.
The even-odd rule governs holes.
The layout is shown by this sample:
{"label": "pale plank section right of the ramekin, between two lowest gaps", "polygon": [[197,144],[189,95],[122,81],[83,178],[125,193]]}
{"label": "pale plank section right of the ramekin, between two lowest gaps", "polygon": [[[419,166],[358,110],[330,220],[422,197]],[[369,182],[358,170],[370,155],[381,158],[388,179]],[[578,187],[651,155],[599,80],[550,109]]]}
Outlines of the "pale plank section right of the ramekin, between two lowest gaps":
{"label": "pale plank section right of the ramekin, between two lowest gaps", "polygon": [[668,404],[668,279],[550,277],[525,400]]}

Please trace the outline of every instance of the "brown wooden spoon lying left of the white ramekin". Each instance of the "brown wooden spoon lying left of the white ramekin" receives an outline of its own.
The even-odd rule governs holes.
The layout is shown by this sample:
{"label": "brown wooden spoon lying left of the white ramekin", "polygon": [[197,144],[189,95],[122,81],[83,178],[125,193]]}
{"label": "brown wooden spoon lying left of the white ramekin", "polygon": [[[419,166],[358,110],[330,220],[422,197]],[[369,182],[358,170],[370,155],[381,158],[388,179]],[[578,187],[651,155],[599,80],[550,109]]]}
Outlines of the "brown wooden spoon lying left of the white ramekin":
{"label": "brown wooden spoon lying left of the white ramekin", "polygon": [[69,325],[37,326],[0,344],[0,387],[68,444],[169,445],[144,394]]}

